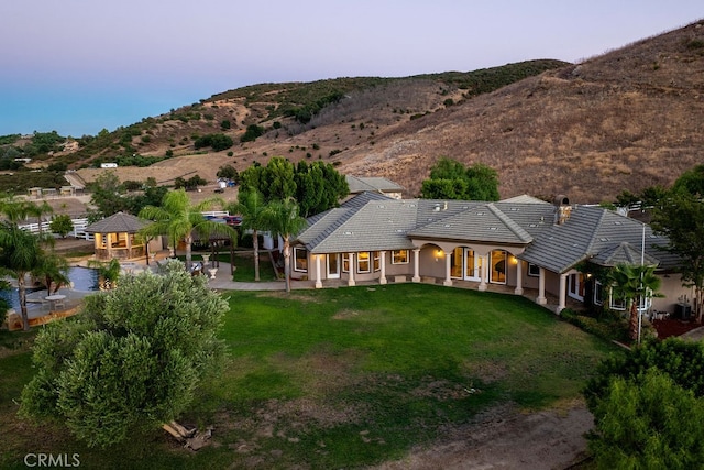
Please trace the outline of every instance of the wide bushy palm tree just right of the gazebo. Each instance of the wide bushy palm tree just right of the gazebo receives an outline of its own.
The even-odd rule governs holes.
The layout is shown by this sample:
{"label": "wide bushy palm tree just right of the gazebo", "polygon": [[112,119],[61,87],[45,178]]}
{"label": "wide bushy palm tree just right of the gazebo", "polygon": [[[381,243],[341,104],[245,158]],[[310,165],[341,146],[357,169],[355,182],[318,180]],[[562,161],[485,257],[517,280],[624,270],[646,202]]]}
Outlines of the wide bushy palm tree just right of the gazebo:
{"label": "wide bushy palm tree just right of the gazebo", "polygon": [[217,204],[222,204],[218,198],[206,199],[197,205],[190,204],[190,198],[182,188],[164,195],[162,206],[146,206],[140,211],[140,217],[154,220],[140,230],[143,237],[166,234],[174,252],[176,244],[183,240],[186,242],[186,269],[191,266],[191,245],[194,233],[208,239],[211,234],[226,234],[237,239],[237,231],[226,223],[210,221],[201,214]]}

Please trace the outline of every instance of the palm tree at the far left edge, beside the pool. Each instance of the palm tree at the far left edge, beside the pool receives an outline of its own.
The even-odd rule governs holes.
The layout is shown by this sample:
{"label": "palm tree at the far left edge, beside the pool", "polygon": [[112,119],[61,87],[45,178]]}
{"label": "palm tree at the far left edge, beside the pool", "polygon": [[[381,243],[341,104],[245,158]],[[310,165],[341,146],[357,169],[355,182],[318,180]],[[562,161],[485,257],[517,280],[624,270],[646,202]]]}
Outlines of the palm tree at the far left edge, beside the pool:
{"label": "palm tree at the far left edge, beside the pool", "polygon": [[30,330],[26,311],[26,275],[42,265],[44,250],[41,239],[22,230],[16,222],[6,220],[0,225],[0,274],[12,276],[18,282],[20,311],[24,330]]}

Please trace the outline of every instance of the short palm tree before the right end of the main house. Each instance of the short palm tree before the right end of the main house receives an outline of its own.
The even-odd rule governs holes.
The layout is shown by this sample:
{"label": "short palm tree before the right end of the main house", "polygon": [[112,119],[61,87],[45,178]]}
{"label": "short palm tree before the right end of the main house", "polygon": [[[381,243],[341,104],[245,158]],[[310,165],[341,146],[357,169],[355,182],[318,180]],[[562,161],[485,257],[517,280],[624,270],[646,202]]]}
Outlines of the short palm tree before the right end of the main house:
{"label": "short palm tree before the right end of the main house", "polygon": [[623,298],[630,306],[628,334],[630,339],[639,339],[638,306],[646,297],[657,297],[660,277],[654,275],[656,266],[617,264],[609,273],[612,295]]}

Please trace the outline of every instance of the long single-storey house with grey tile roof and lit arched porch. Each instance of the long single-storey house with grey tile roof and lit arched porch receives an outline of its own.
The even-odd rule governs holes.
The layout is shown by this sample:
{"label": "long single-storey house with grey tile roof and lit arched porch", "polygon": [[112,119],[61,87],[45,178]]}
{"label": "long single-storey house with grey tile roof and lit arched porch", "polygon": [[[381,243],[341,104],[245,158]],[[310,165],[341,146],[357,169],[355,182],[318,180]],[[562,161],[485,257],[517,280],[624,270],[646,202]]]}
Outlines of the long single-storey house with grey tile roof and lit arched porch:
{"label": "long single-storey house with grey tile roof and lit arched porch", "polygon": [[361,193],[340,207],[314,216],[293,241],[293,278],[326,283],[361,281],[475,283],[510,287],[517,295],[536,292],[557,310],[568,297],[585,304],[608,303],[591,271],[620,262],[657,265],[664,298],[647,308],[673,311],[679,297],[691,296],[674,275],[676,258],[658,250],[668,240],[650,227],[614,211],[553,204],[529,196],[502,201],[393,199]]}

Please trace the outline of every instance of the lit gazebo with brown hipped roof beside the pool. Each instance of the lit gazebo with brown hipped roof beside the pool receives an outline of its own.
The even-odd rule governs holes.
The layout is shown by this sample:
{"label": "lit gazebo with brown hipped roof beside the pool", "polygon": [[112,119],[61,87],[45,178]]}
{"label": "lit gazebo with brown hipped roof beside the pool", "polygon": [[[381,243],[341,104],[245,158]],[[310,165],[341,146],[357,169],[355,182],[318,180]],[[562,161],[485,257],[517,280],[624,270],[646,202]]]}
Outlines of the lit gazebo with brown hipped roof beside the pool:
{"label": "lit gazebo with brown hipped roof beside the pool", "polygon": [[96,259],[129,260],[144,256],[144,241],[138,241],[134,236],[148,223],[131,214],[118,212],[89,225],[86,232],[95,234]]}

